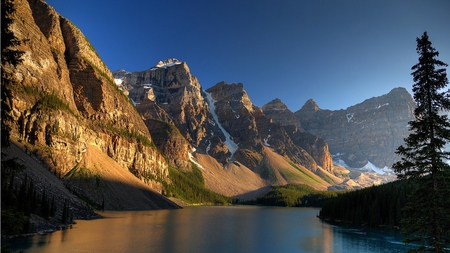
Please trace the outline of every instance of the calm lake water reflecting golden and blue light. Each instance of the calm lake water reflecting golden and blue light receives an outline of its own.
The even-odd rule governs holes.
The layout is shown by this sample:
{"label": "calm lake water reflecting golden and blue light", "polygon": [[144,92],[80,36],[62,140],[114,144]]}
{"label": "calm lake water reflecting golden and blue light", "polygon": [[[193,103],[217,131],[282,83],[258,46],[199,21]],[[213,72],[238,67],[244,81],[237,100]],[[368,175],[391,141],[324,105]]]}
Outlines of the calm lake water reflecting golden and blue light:
{"label": "calm lake water reflecting golden and blue light", "polygon": [[316,208],[188,207],[104,212],[72,229],[19,238],[24,252],[404,252],[397,231],[333,226]]}

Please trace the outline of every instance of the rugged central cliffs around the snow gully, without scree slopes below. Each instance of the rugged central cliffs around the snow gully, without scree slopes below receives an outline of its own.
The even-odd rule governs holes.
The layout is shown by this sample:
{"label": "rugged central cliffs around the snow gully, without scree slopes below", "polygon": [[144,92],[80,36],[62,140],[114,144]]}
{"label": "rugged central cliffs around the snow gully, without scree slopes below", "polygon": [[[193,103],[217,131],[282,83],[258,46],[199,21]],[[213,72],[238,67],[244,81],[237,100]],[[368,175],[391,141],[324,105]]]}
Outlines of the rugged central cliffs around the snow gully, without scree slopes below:
{"label": "rugged central cliffs around the snow gully, without scree slopes below", "polygon": [[[154,137],[158,148],[178,168],[189,170],[189,153],[195,151],[213,157],[223,166],[238,161],[258,172],[264,163],[263,147],[267,146],[312,171],[321,166],[332,170],[324,162],[328,158],[321,157],[331,157],[325,142],[319,148],[315,140],[304,145],[314,152],[313,158],[293,142],[285,128],[253,105],[242,84],[220,82],[203,91],[187,64],[177,59],[161,61],[146,71],[124,73],[114,72],[115,78],[128,89],[152,135],[158,136],[158,141]],[[178,136],[184,140],[167,134],[168,129],[173,130],[170,125],[179,129]],[[305,143],[309,141],[304,138]]]}

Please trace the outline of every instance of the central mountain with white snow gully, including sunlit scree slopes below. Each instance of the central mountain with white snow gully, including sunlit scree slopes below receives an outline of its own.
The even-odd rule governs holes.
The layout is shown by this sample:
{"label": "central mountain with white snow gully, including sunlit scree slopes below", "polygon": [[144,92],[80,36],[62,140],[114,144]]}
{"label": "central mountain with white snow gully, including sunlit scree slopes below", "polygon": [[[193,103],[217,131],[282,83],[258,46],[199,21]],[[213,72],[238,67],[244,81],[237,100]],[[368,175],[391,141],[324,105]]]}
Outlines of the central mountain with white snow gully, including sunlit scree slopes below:
{"label": "central mountain with white snow gully, including sunlit scree slopes below", "polygon": [[[203,90],[187,63],[177,59],[123,73],[113,72],[152,136],[158,136],[158,149],[181,170],[189,171],[190,162],[204,168],[209,189],[247,196],[271,184],[307,183],[326,189],[342,181],[332,173],[323,139],[272,122],[251,102],[243,84],[219,82]],[[213,168],[222,168],[214,172],[222,176],[210,176]],[[231,170],[233,174],[226,172]],[[246,187],[236,173],[246,179]],[[314,179],[305,180],[305,175]]]}

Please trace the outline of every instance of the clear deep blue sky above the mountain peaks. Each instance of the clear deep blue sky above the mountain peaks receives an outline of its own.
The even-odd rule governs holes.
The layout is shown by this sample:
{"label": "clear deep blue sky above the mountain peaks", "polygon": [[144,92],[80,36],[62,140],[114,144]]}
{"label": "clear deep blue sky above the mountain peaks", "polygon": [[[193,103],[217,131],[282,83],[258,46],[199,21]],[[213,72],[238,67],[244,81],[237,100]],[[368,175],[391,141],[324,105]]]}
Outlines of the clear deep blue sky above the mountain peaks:
{"label": "clear deep blue sky above the mountain peaks", "polygon": [[[345,109],[411,90],[426,30],[450,64],[449,0],[48,0],[111,69],[187,62],[204,89],[241,82],[254,104]],[[450,74],[450,70],[447,69]]]}

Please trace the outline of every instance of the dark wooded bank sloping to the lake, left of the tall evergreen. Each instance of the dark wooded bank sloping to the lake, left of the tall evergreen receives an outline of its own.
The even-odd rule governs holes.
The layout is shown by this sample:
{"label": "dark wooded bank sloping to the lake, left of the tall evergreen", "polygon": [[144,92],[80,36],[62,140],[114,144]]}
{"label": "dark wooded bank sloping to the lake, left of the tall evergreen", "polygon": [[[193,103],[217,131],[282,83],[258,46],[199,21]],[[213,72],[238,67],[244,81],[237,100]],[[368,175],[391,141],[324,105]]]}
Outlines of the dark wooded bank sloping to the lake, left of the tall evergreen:
{"label": "dark wooded bank sloping to the lake, left of the tall evergreen", "polygon": [[325,201],[321,219],[368,226],[400,225],[401,210],[414,185],[405,180],[347,192]]}

